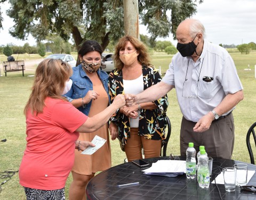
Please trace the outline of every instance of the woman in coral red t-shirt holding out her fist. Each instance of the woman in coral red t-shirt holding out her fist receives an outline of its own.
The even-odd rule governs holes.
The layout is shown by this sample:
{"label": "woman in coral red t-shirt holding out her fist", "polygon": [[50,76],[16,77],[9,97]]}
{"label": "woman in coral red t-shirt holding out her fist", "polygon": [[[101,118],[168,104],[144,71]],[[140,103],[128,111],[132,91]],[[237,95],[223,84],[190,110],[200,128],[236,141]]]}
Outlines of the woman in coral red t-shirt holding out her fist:
{"label": "woman in coral red t-shirt holding out her fist", "polygon": [[65,199],[64,187],[78,151],[94,146],[77,140],[78,132],[99,129],[125,105],[123,95],[101,113],[88,117],[62,97],[71,87],[72,69],[62,60],[39,63],[25,107],[27,146],[19,178],[27,199]]}

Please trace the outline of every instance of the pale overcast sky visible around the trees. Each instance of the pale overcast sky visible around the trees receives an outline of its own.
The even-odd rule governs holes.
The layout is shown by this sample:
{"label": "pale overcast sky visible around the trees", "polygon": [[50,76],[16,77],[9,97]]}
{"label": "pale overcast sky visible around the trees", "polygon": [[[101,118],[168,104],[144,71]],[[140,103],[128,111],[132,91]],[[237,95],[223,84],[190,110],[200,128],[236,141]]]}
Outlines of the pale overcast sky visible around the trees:
{"label": "pale overcast sky visible around the trees", "polygon": [[[25,43],[35,45],[32,37],[28,40],[17,40],[13,38],[8,30],[13,26],[13,21],[5,14],[9,8],[7,3],[1,3],[3,13],[3,28],[0,30],[0,45],[13,43],[23,46]],[[204,0],[197,7],[197,13],[193,18],[200,20],[206,30],[206,39],[215,44],[256,43],[256,0]],[[147,34],[146,28],[140,26],[140,34]],[[169,38],[158,38],[158,40],[170,40],[174,45],[172,35]]]}

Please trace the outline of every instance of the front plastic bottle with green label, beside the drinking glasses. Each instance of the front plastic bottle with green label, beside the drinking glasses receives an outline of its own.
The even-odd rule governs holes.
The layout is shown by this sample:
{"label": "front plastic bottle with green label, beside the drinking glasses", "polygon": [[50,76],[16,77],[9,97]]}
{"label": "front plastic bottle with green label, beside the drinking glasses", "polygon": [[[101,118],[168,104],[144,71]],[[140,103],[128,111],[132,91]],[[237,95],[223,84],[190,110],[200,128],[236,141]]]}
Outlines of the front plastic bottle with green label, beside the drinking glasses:
{"label": "front plastic bottle with green label, beside the drinking glasses", "polygon": [[208,157],[205,153],[205,149],[200,151],[201,155],[199,155],[198,159],[198,170],[197,170],[197,181],[199,187],[201,188],[209,188],[210,185],[210,172],[208,168]]}

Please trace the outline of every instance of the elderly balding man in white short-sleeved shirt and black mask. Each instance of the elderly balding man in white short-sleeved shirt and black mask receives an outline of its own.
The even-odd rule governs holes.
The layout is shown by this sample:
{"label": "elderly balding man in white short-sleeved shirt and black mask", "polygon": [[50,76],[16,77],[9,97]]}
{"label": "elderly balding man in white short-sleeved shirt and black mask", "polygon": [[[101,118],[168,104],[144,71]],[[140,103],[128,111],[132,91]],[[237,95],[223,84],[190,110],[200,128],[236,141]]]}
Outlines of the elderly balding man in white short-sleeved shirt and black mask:
{"label": "elderly balding man in white short-sleeved shirt and black mask", "polygon": [[140,94],[126,94],[126,105],[151,102],[176,89],[183,114],[180,154],[188,143],[205,146],[211,157],[231,159],[234,148],[232,111],[243,99],[243,86],[226,49],[204,39],[203,24],[182,21],[176,31],[178,53],[161,82]]}

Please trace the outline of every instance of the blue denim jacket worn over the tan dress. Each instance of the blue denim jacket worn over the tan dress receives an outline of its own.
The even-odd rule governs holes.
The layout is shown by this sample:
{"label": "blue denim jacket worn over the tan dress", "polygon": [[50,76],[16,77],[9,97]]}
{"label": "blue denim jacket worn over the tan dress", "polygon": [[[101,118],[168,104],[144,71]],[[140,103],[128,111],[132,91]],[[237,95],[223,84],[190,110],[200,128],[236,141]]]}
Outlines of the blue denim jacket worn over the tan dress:
{"label": "blue denim jacket worn over the tan dress", "polygon": [[[73,81],[72,87],[67,94],[63,95],[68,99],[69,102],[73,101],[73,99],[82,98],[87,94],[89,90],[93,90],[92,81],[90,80],[89,77],[87,77],[87,74],[82,69],[82,65],[79,64],[78,66],[75,66],[72,69],[73,69],[73,74],[70,77],[70,79]],[[110,103],[110,96],[108,93],[108,74],[107,72],[102,71],[100,69],[97,71],[97,73],[98,73],[98,76],[100,77],[103,87],[106,90],[106,93],[108,94],[108,99]],[[85,108],[81,106],[81,107],[78,107],[77,109],[82,113],[84,113],[85,115],[88,115],[91,105],[92,105],[92,101],[86,104]]]}

